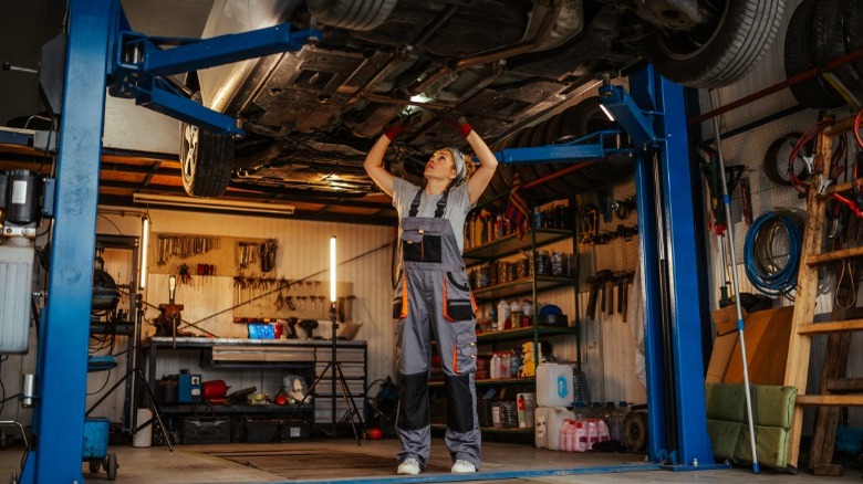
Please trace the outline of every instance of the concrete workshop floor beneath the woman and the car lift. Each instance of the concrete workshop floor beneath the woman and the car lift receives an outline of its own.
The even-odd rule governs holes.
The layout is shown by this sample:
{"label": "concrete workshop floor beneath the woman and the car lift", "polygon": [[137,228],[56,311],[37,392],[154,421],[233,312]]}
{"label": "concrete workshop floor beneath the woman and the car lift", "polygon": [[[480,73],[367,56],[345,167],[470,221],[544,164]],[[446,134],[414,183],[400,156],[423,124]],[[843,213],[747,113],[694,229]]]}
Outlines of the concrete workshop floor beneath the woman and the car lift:
{"label": "concrete workshop floor beneath the woman and the car lift", "polygon": [[[449,471],[449,456],[443,439],[435,439],[429,469],[417,477],[395,475],[395,440],[363,442],[350,439],[315,439],[282,444],[177,445],[167,448],[112,446],[119,463],[116,483],[277,483],[277,482],[453,482],[468,481],[511,484],[558,483],[813,483],[861,482],[859,470],[846,470],[842,477],[787,475],[747,469],[699,472],[641,471],[614,474],[595,473],[609,466],[644,469],[636,454],[573,454],[533,449],[523,443],[486,442],[482,445],[482,472],[465,476]],[[230,457],[225,459],[226,456]],[[305,456],[305,461],[302,461]],[[21,449],[0,451],[0,482],[18,472]],[[82,465],[86,482],[108,482],[104,471],[90,474]],[[552,470],[554,470],[552,472]],[[527,476],[516,473],[527,471]]]}

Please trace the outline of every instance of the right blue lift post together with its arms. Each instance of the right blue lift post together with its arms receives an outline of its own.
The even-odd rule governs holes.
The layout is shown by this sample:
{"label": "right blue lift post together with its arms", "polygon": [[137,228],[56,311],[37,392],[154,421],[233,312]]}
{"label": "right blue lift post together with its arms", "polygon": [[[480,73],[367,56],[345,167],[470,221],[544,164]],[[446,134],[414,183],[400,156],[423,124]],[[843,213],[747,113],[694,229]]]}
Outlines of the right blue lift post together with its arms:
{"label": "right blue lift post together with its arms", "polygon": [[[727,469],[716,463],[707,434],[701,324],[709,316],[704,304],[706,282],[697,270],[701,248],[694,207],[700,193],[698,167],[688,156],[684,90],[649,65],[631,74],[630,87],[632,95],[606,80],[600,102],[630,135],[632,149],[606,149],[603,139],[613,133],[599,133],[565,145],[503,149],[498,158],[505,164],[531,164],[596,161],[623,152],[635,156],[648,455],[669,470]],[[655,209],[656,200],[661,210]]]}

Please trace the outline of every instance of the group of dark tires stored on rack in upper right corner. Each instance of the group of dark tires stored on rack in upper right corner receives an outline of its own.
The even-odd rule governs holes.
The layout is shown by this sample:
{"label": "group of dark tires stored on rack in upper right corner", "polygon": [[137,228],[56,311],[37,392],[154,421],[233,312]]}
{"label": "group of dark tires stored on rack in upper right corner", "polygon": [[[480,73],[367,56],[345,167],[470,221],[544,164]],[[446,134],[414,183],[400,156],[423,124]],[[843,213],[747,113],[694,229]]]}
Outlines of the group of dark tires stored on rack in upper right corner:
{"label": "group of dark tires stored on rack in upper right corner", "polygon": [[[791,15],[784,44],[786,76],[863,48],[863,11],[856,0],[803,0]],[[863,60],[846,63],[833,75],[857,98],[863,95]],[[814,109],[840,107],[844,97],[819,75],[791,86],[801,105]]]}

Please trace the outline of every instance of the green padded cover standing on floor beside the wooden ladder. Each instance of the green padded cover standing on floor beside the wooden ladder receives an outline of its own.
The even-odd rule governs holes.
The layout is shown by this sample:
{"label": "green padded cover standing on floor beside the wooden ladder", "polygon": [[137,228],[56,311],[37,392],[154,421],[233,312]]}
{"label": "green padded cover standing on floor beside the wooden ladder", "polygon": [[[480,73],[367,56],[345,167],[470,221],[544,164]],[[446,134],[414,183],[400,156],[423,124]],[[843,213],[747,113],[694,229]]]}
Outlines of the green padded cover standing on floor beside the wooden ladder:
{"label": "green padded cover standing on floor beside the wooden ladder", "polygon": [[[771,467],[786,467],[797,389],[759,385],[750,388],[758,462]],[[740,465],[751,464],[752,451],[744,386],[706,383],[705,398],[707,433],[717,459],[727,459]]]}

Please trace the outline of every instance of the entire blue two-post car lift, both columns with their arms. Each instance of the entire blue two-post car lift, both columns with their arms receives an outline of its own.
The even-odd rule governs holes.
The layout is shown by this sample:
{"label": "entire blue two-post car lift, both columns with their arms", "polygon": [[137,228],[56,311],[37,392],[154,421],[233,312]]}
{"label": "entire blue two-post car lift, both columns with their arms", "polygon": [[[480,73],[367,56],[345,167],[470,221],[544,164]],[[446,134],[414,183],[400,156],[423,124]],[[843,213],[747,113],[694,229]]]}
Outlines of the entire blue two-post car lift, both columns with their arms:
{"label": "entire blue two-post car lift, both columns with their arms", "polygon": [[[91,309],[105,88],[216,133],[241,136],[233,118],[198,106],[163,76],[297,50],[320,39],[320,32],[295,32],[290,25],[204,41],[148,39],[131,31],[117,0],[71,0],[69,9],[49,298],[39,328],[37,444],[24,464],[21,482],[25,483],[83,481],[89,327],[82,322],[90,320]],[[160,44],[177,46],[162,50]],[[105,75],[94,75],[101,72]],[[632,96],[610,84],[601,94],[603,105],[636,146],[649,457],[678,470],[725,467],[715,463],[707,435],[700,346],[705,282],[693,271],[698,254],[693,208],[698,193],[693,180],[698,170],[687,156],[683,88],[649,66],[630,81]],[[578,162],[607,155],[600,141],[592,147],[503,150],[501,158],[512,164]],[[653,210],[654,200],[662,200],[661,213]],[[662,280],[667,282],[662,284]],[[663,320],[668,322],[668,332]],[[668,380],[673,380],[670,392],[665,388]],[[668,406],[674,408],[669,413],[674,435],[667,432],[672,423],[665,411]],[[481,473],[486,478],[498,477],[490,474]]]}

